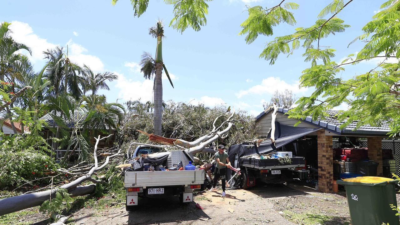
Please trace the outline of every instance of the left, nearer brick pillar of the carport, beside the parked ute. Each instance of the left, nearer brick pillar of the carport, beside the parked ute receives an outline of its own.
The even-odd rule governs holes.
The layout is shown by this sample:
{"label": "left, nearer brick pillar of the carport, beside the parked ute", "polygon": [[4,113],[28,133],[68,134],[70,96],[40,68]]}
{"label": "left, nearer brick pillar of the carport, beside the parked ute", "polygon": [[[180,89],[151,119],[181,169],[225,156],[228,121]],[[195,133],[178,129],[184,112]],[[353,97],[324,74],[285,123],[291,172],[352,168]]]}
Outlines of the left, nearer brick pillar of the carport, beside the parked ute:
{"label": "left, nearer brick pillar of the carport, beside the parked ute", "polygon": [[333,191],[333,149],[332,136],[325,130],[318,131],[318,190],[324,193]]}

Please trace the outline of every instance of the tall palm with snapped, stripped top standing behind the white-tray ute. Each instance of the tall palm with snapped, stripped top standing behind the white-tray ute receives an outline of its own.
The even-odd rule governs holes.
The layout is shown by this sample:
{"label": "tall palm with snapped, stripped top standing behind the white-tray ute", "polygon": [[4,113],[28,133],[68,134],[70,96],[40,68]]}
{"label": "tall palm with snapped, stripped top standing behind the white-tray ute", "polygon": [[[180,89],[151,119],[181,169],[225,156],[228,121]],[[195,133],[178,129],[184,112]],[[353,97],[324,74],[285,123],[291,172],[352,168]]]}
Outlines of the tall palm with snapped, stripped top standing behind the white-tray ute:
{"label": "tall palm with snapped, stripped top standing behind the white-tray ute", "polygon": [[161,123],[162,123],[162,69],[164,68],[165,74],[168,77],[172,87],[170,75],[168,74],[167,68],[162,61],[162,38],[164,38],[164,26],[162,22],[158,20],[156,26],[149,29],[149,34],[157,39],[156,48],[156,58],[153,59],[151,54],[144,52],[142,54],[142,60],[140,61],[140,66],[142,68],[140,71],[143,72],[143,76],[146,79],[151,79],[154,74],[154,134],[161,135]]}

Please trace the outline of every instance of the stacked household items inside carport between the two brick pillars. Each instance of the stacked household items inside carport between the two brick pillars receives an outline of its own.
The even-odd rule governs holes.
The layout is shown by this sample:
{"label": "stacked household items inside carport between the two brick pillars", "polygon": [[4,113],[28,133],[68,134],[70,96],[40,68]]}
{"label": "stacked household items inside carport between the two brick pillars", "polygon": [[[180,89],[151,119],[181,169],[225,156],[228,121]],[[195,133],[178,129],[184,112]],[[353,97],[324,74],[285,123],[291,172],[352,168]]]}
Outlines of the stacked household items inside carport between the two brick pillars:
{"label": "stacked household items inside carport between the two brick pillars", "polygon": [[335,153],[334,177],[336,179],[376,176],[379,163],[368,159],[367,148],[337,148]]}

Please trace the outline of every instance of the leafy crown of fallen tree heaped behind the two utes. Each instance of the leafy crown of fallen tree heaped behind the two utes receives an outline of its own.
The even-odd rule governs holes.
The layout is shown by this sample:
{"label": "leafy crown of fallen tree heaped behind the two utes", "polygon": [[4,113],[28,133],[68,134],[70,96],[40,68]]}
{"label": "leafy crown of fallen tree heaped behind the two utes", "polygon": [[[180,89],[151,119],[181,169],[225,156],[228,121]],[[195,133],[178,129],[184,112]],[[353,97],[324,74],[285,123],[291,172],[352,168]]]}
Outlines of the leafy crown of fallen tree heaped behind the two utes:
{"label": "leafy crown of fallen tree heaped behind the two utes", "polygon": [[[212,123],[216,117],[225,114],[227,108],[226,106],[209,108],[203,104],[192,105],[168,101],[162,115],[162,136],[193,141],[208,134],[213,129]],[[142,135],[136,130],[154,133],[152,117],[145,111],[136,111],[136,113],[138,115],[132,115],[121,130],[124,143],[131,141],[149,142],[146,135]],[[227,117],[220,117],[216,124],[220,125],[226,119]],[[255,133],[254,119],[248,116],[245,111],[236,111],[233,120],[235,120],[236,126],[232,127],[226,139],[218,139],[217,145],[229,146],[258,137]]]}

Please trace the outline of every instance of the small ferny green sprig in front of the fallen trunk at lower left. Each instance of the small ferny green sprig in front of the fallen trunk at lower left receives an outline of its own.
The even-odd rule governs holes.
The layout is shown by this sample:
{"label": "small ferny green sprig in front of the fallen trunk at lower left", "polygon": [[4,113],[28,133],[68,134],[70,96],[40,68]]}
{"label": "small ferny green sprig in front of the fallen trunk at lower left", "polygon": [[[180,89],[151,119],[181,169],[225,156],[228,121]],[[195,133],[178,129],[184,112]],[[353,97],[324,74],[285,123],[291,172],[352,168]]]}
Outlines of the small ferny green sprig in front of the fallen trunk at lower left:
{"label": "small ferny green sprig in front of the fallen trunk at lower left", "polygon": [[56,196],[46,200],[40,205],[39,211],[47,213],[61,214],[63,211],[68,212],[71,209],[71,203],[74,199],[70,196],[67,189],[56,188]]}

